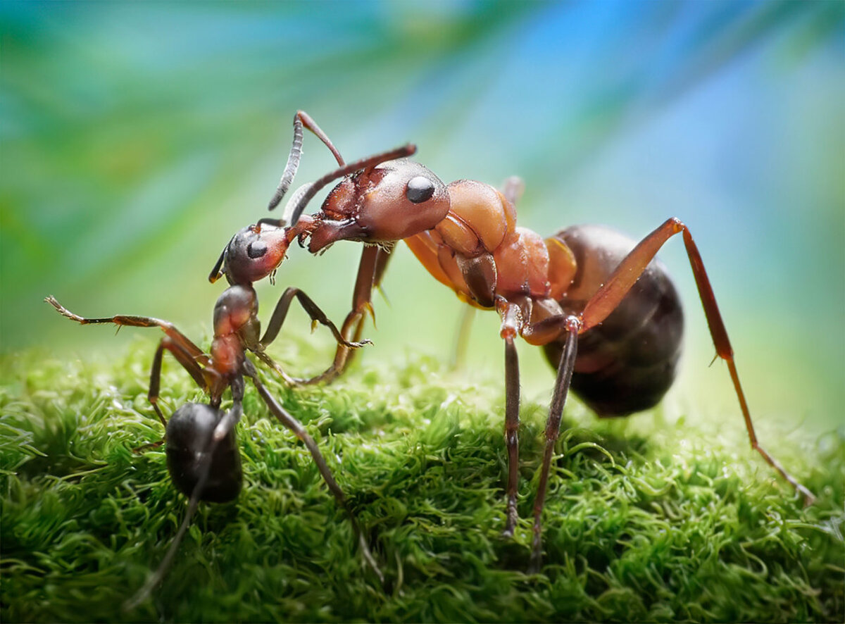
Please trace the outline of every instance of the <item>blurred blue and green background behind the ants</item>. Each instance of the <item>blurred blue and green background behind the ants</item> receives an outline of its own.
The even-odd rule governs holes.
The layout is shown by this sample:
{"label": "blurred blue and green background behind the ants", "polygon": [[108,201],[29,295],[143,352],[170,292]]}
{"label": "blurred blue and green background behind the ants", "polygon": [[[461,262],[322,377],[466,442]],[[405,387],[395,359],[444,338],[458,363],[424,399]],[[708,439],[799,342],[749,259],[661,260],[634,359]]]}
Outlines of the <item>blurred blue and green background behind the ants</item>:
{"label": "blurred blue and green background behind the ants", "polygon": [[[755,416],[842,422],[843,3],[3,2],[0,24],[3,352],[111,357],[144,334],[152,355],[154,332],[71,326],[46,294],[207,340],[224,286],[206,276],[265,216],[302,108],[347,160],[412,140],[445,182],[521,176],[520,222],[543,235],[641,238],[678,216]],[[333,165],[308,135],[297,183]],[[293,248],[259,286],[264,315],[295,285],[339,322],[359,253]],[[667,404],[739,420],[680,240],[661,258],[687,315]],[[448,359],[461,306],[404,246],[384,291],[364,364]],[[288,322],[280,340],[307,333]],[[540,350],[520,349],[523,386],[548,400]],[[499,377],[502,353],[496,315],[477,315],[468,368]]]}

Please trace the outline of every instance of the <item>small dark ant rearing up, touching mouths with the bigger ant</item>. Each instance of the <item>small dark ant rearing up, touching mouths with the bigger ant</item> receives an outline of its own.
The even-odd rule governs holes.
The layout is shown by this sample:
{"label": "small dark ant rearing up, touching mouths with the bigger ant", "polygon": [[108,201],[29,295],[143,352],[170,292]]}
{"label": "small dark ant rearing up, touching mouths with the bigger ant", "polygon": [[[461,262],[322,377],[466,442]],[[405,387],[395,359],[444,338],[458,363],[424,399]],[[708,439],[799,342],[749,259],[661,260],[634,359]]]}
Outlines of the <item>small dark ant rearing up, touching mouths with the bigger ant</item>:
{"label": "small dark ant rearing up, touching mouths with the bigger ant", "polygon": [[[211,342],[210,353],[204,353],[166,320],[135,315],[86,318],[75,315],[52,296],[45,298],[46,303],[51,304],[59,314],[80,325],[112,323],[117,325],[118,329],[122,326],[159,327],[165,333],[165,337],[161,339],[155,350],[150,369],[148,398],[161,424],[165,426],[166,434],[163,441],[141,446],[136,451],[166,443],[167,468],[177,489],[189,497],[188,511],[158,570],[148,579],[134,599],[128,601],[127,608],[139,605],[149,596],[155,585],[161,582],[199,501],[232,501],[240,493],[242,469],[237,451],[235,425],[243,414],[244,377],[252,380],[270,412],[287,429],[292,430],[293,434],[308,448],[338,505],[349,514],[364,561],[373,568],[379,580],[384,582],[384,577],[369,551],[366,539],[352,515],[352,510],[346,504],[346,496],[332,477],[330,468],[316,442],[303,425],[276,402],[259,379],[258,370],[246,357],[248,351],[252,352],[280,373],[285,380],[294,383],[297,381],[296,378],[285,375],[281,367],[264,352],[281,330],[294,298],[311,317],[312,325],[316,326],[319,323],[327,326],[344,348],[360,348],[369,343],[369,341],[347,341],[317,304],[295,287],[287,288],[281,295],[264,336],[259,340],[261,326],[258,319],[258,298],[252,282],[275,272],[275,268],[284,260],[287,246],[295,233],[295,230],[286,231],[267,226],[245,227],[226,246],[215,270],[220,271],[221,275],[225,273],[230,286],[215,304],[214,338]],[[161,361],[165,350],[172,353],[177,362],[182,364],[188,374],[194,378],[197,385],[209,395],[207,404],[188,402],[178,408],[169,420],[165,419],[158,405]],[[232,408],[223,412],[220,408],[221,398],[227,388],[232,390]]]}

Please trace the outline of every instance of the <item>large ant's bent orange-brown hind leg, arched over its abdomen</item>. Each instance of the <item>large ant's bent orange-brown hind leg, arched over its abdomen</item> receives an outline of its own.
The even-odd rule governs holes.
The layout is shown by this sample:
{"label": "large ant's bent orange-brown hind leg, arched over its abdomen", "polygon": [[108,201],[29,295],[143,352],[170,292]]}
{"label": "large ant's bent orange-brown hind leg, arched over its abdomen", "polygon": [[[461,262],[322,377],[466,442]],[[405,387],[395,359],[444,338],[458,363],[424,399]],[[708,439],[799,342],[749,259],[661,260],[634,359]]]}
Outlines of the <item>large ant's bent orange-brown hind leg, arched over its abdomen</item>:
{"label": "large ant's bent orange-brown hind leg, arched over its abdomen", "polygon": [[672,217],[666,222],[663,222],[654,232],[643,238],[630,251],[630,254],[625,256],[624,260],[613,271],[613,274],[608,277],[608,281],[587,302],[580,315],[582,323],[580,331],[587,331],[592,326],[596,326],[607,318],[613,312],[613,309],[619,305],[625,294],[628,293],[630,287],[641,276],[642,272],[646,269],[646,265],[657,254],[657,250],[669,238],[678,233],[683,233],[684,246],[686,247],[687,256],[690,259],[690,266],[692,267],[693,276],[695,276],[695,285],[698,287],[699,297],[701,297],[701,304],[704,307],[704,314],[707,319],[707,326],[710,328],[710,335],[713,339],[713,344],[716,346],[716,353],[728,363],[728,371],[730,372],[731,380],[733,380],[733,388],[739,399],[739,408],[742,410],[743,418],[745,419],[745,429],[748,430],[751,448],[759,452],[763,459],[766,460],[766,463],[777,470],[777,473],[780,473],[783,479],[786,479],[800,495],[804,496],[805,505],[810,505],[815,501],[813,493],[805,488],[804,485],[800,484],[797,479],[782,467],[781,463],[774,457],[771,457],[757,442],[757,435],[754,431],[754,424],[751,422],[748,403],[745,401],[742,386],[739,385],[739,374],[737,373],[736,364],[733,359],[733,348],[731,347],[731,342],[728,340],[728,331],[725,329],[722,314],[719,312],[719,307],[716,304],[716,297],[713,294],[710,279],[707,277],[704,263],[701,260],[701,254],[692,239],[690,229],[684,223],[680,222],[679,219]]}

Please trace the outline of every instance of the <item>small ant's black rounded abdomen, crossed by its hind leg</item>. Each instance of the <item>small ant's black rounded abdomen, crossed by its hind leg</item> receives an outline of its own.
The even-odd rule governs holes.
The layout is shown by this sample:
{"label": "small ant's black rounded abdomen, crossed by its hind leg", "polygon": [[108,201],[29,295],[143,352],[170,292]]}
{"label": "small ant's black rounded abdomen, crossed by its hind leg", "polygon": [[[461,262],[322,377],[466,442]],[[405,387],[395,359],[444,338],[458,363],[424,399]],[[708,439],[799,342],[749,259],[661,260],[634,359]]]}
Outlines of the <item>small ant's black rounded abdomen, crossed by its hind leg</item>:
{"label": "small ant's black rounded abdomen, crossed by its hind leg", "polygon": [[203,470],[209,474],[199,492],[200,500],[227,502],[241,492],[243,470],[234,428],[215,446],[210,463],[204,461],[211,435],[222,417],[222,410],[206,403],[186,403],[167,421],[167,470],[173,484],[186,496],[194,493]]}

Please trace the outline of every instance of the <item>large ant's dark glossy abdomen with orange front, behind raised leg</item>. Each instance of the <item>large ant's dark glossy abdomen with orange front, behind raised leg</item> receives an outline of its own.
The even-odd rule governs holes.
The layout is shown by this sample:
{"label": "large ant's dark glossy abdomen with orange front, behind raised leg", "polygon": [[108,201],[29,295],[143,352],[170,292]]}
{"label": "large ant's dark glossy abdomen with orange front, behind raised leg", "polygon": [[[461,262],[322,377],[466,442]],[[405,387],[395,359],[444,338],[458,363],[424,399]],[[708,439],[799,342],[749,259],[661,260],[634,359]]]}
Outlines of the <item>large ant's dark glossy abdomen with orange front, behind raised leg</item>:
{"label": "large ant's dark glossy abdomen with orange front, behind raised leg", "polygon": [[[554,236],[572,249],[578,264],[559,302],[575,314],[636,244],[601,226],[568,227]],[[579,337],[572,390],[599,416],[625,416],[657,405],[672,386],[683,331],[678,293],[663,265],[653,260],[619,307]],[[555,368],[562,348],[562,342],[544,347]]]}

